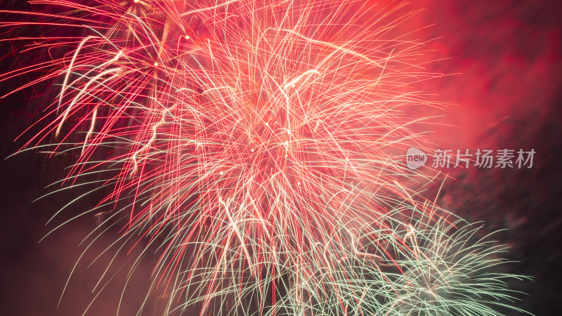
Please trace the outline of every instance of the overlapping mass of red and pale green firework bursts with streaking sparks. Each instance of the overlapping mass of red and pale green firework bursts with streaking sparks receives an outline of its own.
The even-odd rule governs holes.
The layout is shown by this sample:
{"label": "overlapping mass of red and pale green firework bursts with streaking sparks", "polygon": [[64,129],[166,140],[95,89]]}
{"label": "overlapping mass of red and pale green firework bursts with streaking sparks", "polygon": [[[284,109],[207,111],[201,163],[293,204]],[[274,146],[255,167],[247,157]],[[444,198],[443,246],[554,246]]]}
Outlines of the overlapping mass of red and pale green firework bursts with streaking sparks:
{"label": "overlapping mass of red and pale green firework bursts with streaking sparks", "polygon": [[80,150],[60,184],[105,177],[93,191],[112,193],[81,216],[122,225],[115,256],[157,249],[167,312],[499,315],[510,276],[483,268],[501,249],[464,245],[473,230],[408,190],[393,155],[423,142],[407,108],[440,106],[411,87],[439,74],[416,65],[423,42],[394,35],[405,4],[30,3],[75,9],[41,25],[88,35],[44,37],[74,51],[0,77],[62,79],[25,148],[54,134],[53,152]]}

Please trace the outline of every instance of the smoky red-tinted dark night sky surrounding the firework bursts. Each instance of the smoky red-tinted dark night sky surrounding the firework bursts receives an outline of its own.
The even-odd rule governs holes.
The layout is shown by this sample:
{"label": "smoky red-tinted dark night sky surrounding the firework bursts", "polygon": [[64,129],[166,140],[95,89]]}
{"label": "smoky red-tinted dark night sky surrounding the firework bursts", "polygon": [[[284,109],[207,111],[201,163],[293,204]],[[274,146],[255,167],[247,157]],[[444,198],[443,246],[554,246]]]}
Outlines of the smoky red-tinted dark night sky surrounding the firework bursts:
{"label": "smoky red-tinted dark night sky surrounding the firework bursts", "polygon": [[[22,6],[2,1],[1,9]],[[3,8],[4,7],[4,8]],[[516,303],[535,315],[560,315],[562,310],[562,4],[546,0],[421,0],[407,8],[426,8],[405,29],[433,25],[419,38],[436,38],[429,71],[455,74],[420,84],[436,100],[457,103],[438,114],[429,139],[447,149],[535,149],[532,169],[471,168],[451,171],[438,204],[471,222],[484,221],[489,231],[507,229],[495,237],[511,249],[515,261],[504,272],[529,275],[532,281],[510,284],[524,291]],[[13,15],[0,15],[2,20]],[[31,32],[31,31],[30,31]],[[6,38],[7,34],[0,34]],[[11,47],[0,46],[0,71],[13,70]],[[12,82],[11,84],[17,84]],[[10,84],[1,84],[0,92]],[[0,100],[0,157],[8,157],[24,143],[15,140],[37,120],[42,103],[34,98],[46,87],[27,89]],[[15,140],[15,141],[14,141]],[[39,242],[55,225],[45,225],[68,202],[55,195],[39,202],[44,187],[64,176],[60,166],[72,157],[46,159],[37,153],[19,154],[0,161],[0,306],[2,315],[81,315],[95,294],[93,285],[110,259],[90,268],[97,249],[79,264],[63,301],[57,308],[65,280],[84,247],[80,240],[96,227],[82,218]],[[77,204],[87,207],[88,202]],[[72,211],[69,215],[72,215]],[[63,216],[64,217],[64,216]],[[60,223],[60,222],[58,222]],[[104,237],[110,242],[110,236]],[[134,257],[134,254],[133,254]],[[126,256],[117,257],[125,263]],[[140,273],[150,273],[150,260]],[[115,270],[112,270],[115,272]],[[122,315],[132,315],[148,281],[129,284]],[[115,315],[124,277],[117,275],[96,298],[88,315]],[[131,294],[131,295],[129,295]],[[163,301],[162,301],[163,302]],[[160,298],[153,298],[145,315],[158,315]],[[128,310],[129,306],[131,309]],[[186,315],[190,315],[189,313]],[[510,314],[516,315],[516,314]]]}

